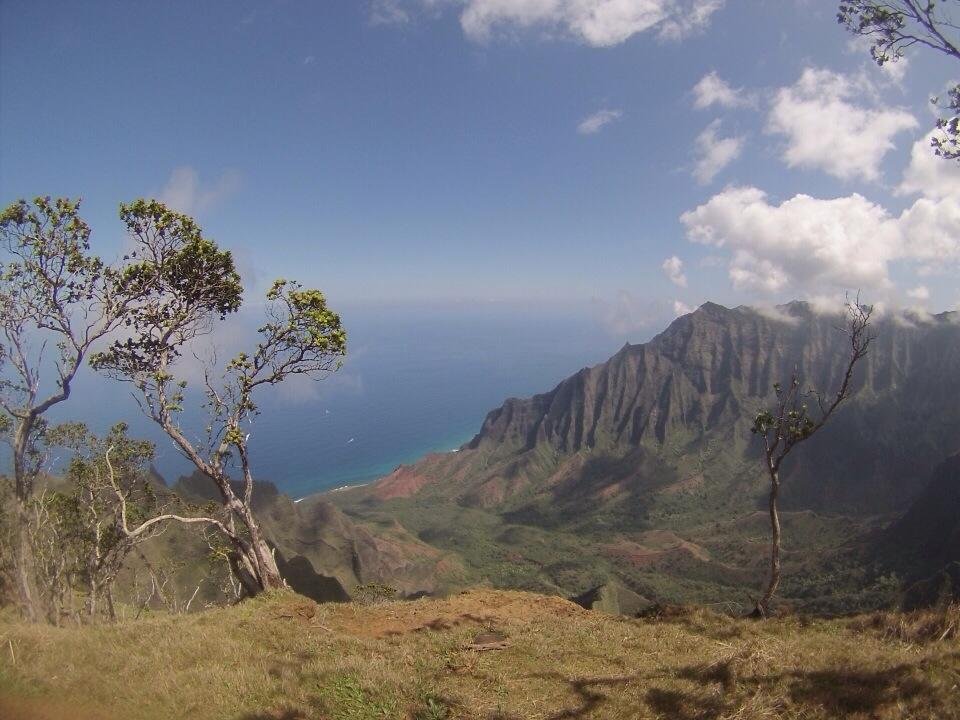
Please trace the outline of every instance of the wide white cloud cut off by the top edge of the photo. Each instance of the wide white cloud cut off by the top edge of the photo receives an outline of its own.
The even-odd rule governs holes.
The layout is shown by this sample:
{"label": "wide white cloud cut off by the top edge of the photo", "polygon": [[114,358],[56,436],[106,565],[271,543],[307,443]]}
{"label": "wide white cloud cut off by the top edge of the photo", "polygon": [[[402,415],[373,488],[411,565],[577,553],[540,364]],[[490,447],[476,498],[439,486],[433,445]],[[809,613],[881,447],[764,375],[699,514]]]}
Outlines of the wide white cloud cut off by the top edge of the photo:
{"label": "wide white cloud cut off by the top edge of the photo", "polygon": [[466,0],[460,24],[484,42],[513,29],[540,29],[594,47],[657,30],[665,39],[702,31],[723,0]]}

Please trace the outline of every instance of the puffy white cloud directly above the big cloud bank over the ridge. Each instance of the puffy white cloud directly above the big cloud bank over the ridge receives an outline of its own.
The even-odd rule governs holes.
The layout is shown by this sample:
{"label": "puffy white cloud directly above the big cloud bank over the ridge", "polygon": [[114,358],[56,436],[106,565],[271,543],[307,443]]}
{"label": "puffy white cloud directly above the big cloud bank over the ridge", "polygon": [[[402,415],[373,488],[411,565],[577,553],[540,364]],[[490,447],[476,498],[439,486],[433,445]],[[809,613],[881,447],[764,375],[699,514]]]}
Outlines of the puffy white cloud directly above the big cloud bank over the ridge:
{"label": "puffy white cloud directly above the big cloud bank over the ridge", "polygon": [[842,180],[880,178],[880,163],[893,138],[917,126],[898,108],[855,104],[872,88],[862,78],[806,68],[796,84],[780,88],[767,131],[787,139],[790,167],[818,168]]}

